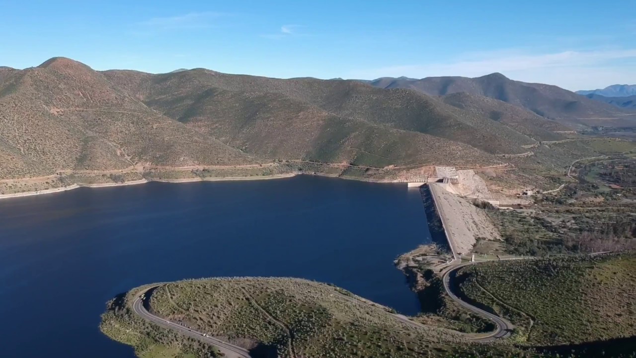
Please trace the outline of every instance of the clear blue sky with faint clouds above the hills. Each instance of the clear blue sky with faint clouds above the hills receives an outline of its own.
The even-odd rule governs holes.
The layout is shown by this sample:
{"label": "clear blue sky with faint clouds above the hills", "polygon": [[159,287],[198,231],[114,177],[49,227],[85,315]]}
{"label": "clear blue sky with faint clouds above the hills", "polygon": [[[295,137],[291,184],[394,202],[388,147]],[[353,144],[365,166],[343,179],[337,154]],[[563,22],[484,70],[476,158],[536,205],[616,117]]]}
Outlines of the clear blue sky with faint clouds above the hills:
{"label": "clear blue sky with faint clouds above the hills", "polygon": [[636,0],[13,1],[0,66],[275,77],[480,76],[636,83]]}

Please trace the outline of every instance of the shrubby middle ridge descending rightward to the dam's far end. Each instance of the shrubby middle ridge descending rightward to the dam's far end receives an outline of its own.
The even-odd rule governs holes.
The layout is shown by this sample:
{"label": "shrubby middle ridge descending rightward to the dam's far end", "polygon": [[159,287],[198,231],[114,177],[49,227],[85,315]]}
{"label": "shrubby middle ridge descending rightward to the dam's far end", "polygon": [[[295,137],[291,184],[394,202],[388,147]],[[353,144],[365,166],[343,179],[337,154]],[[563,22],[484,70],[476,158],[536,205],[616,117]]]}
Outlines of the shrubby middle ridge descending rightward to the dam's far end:
{"label": "shrubby middle ridge descending rightward to the dam's far end", "polygon": [[146,103],[197,131],[270,160],[351,162],[383,168],[417,164],[451,148],[445,155],[448,162],[495,161],[462,143],[338,117],[277,93],[213,88],[196,96],[162,97]]}

